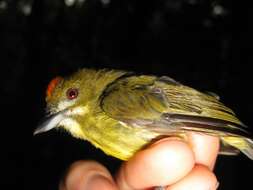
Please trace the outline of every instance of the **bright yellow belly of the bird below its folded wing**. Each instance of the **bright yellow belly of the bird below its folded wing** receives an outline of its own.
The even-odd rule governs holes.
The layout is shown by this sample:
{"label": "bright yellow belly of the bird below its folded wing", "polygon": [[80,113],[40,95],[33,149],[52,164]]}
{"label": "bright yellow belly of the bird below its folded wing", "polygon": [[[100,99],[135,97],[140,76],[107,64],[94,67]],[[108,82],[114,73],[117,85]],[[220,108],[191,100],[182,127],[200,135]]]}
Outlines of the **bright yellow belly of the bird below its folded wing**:
{"label": "bright yellow belly of the bird below its folded wing", "polygon": [[90,136],[91,138],[88,140],[106,154],[121,160],[128,160],[137,151],[147,146],[152,139],[159,136],[144,127],[133,127],[119,123],[113,126],[104,126],[103,130],[100,127],[99,129],[100,137]]}

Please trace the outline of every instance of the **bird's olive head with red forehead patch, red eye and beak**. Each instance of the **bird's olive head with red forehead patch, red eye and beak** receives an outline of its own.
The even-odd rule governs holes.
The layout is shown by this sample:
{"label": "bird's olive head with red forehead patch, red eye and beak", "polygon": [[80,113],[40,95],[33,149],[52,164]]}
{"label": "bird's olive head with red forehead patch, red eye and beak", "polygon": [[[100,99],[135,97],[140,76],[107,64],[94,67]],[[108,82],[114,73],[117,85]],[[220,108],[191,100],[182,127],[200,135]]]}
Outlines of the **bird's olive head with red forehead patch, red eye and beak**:
{"label": "bird's olive head with red forehead patch, red eye and beak", "polygon": [[46,90],[48,116],[34,134],[61,126],[72,135],[80,136],[80,118],[90,112],[89,105],[96,102],[101,94],[106,81],[102,78],[102,73],[86,69],[68,78],[56,77],[51,80]]}

